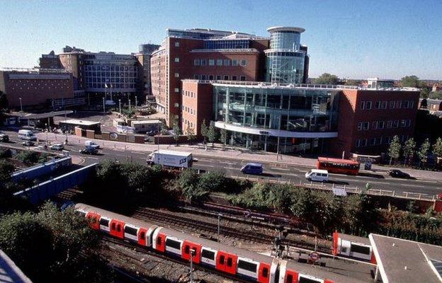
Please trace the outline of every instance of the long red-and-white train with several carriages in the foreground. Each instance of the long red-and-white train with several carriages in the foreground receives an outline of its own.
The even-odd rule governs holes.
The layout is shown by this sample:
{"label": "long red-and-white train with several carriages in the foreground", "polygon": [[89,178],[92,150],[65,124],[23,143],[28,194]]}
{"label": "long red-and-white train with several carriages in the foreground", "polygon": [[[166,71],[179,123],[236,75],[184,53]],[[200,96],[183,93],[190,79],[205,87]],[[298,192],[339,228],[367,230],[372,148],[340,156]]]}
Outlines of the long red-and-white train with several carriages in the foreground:
{"label": "long red-and-white train with several carriages in the foreground", "polygon": [[317,267],[278,260],[249,250],[198,238],[146,221],[108,212],[86,204],[76,204],[79,214],[89,219],[92,229],[115,238],[183,261],[192,260],[218,272],[259,283],[349,283],[357,279],[337,275]]}

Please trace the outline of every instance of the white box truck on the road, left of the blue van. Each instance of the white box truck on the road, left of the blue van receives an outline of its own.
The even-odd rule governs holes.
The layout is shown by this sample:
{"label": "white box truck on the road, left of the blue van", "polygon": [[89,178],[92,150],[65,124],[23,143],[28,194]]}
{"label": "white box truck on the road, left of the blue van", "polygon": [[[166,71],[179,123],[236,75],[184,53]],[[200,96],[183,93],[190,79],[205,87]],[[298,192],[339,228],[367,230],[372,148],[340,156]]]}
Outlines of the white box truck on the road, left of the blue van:
{"label": "white box truck on the road, left of the blue van", "polygon": [[159,164],[162,166],[189,168],[192,166],[192,154],[190,152],[156,150],[147,157],[147,164]]}

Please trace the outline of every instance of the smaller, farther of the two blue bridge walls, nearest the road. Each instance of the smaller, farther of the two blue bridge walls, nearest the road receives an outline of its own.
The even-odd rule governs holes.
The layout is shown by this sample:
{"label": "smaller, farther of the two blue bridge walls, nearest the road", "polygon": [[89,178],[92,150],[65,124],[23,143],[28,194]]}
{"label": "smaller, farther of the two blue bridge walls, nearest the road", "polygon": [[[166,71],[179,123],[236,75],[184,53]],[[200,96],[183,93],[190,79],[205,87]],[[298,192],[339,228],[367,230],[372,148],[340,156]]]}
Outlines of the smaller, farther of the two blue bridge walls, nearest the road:
{"label": "smaller, farther of the two blue bridge walls, nearest the road", "polygon": [[59,159],[54,159],[47,161],[45,163],[23,169],[21,171],[16,171],[12,173],[11,179],[13,182],[18,182],[21,179],[33,180],[39,178],[43,175],[47,175],[61,167],[67,167],[72,165],[72,157],[66,156]]}

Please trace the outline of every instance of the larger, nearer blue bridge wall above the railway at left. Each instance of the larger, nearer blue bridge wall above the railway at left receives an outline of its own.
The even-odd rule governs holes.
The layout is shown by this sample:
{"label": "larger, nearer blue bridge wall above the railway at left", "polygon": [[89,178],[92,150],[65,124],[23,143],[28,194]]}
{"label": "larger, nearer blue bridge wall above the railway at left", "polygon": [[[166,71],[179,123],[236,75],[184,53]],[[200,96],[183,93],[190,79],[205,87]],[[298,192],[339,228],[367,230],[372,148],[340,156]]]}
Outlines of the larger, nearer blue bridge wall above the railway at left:
{"label": "larger, nearer blue bridge wall above the railway at left", "polygon": [[90,177],[91,172],[94,171],[97,165],[98,163],[94,163],[77,169],[33,187],[28,187],[26,190],[14,193],[14,195],[16,197],[24,197],[33,204],[38,204],[44,200],[49,200],[50,197],[53,197],[64,190],[81,185]]}

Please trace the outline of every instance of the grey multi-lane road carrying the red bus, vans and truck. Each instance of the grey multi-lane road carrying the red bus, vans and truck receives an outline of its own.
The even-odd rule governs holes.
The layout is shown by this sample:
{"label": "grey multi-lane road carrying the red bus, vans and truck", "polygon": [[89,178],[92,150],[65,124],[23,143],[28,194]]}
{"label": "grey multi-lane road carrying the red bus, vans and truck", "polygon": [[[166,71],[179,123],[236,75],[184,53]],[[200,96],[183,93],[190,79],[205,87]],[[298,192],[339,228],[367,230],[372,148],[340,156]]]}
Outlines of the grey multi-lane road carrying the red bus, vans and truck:
{"label": "grey multi-lane road carrying the red bus, vans and truck", "polygon": [[[5,131],[4,131],[5,132]],[[9,134],[11,143],[20,143],[15,132],[6,132]],[[132,161],[135,163],[145,164],[149,151],[124,151],[119,149],[100,149],[99,154],[94,156],[79,154],[79,149],[84,146],[80,144],[68,144],[66,149],[71,152],[72,156],[81,156],[82,165],[89,165],[104,159],[115,159],[120,162]],[[193,163],[193,168],[203,171],[220,171],[226,175],[243,175],[239,170],[247,162],[253,160],[223,158],[220,156],[198,156],[194,155],[198,161]],[[283,163],[263,162],[264,173],[261,178],[269,178],[271,180],[290,180],[293,183],[305,183],[305,172],[311,168],[300,165],[289,165]],[[256,178],[256,176],[253,176]],[[365,187],[370,183],[373,189],[395,190],[397,193],[414,192],[423,195],[438,195],[442,192],[442,180],[403,180],[391,178],[386,173],[360,173],[357,176],[329,174],[329,183],[336,185],[347,185],[349,187]]]}

